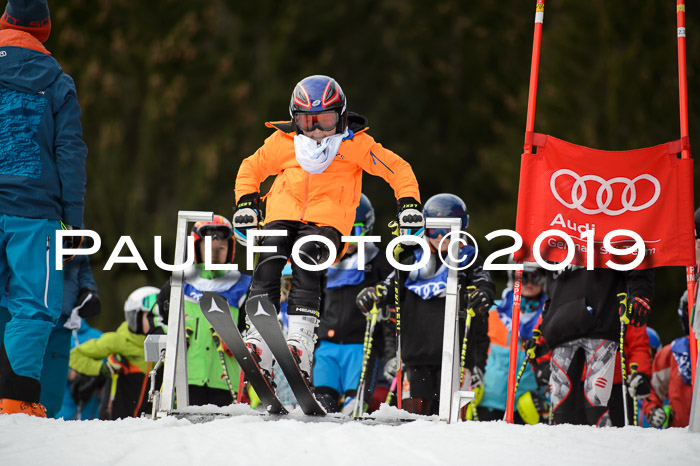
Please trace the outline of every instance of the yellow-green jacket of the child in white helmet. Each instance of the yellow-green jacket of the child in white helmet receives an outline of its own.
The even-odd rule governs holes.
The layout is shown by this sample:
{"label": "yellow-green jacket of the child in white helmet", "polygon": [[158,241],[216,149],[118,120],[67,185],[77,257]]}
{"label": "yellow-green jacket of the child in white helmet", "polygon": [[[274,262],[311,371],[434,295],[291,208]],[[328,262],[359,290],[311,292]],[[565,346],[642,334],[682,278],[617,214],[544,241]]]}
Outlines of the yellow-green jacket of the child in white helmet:
{"label": "yellow-green jacket of the child in white helmet", "polygon": [[145,339],[145,335],[131,333],[126,322],[122,322],[116,332],[103,333],[100,338],[88,340],[73,348],[69,365],[81,374],[99,375],[102,359],[110,354],[119,354],[126,358],[133,369],[147,373],[148,363],[143,354]]}

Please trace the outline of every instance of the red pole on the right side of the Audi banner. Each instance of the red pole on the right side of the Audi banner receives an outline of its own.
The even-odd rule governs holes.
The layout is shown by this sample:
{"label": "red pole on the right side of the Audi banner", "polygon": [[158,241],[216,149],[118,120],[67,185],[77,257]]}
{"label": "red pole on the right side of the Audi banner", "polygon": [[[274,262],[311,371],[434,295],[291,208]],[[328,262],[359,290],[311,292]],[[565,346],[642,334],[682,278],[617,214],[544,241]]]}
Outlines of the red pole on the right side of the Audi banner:
{"label": "red pole on the right side of the Audi banner", "polygon": [[[681,140],[684,141],[684,149],[681,157],[690,157],[690,149],[685,142],[688,140],[688,78],[685,62],[685,0],[676,3],[676,20],[678,25],[678,97],[681,110]],[[688,288],[688,328],[695,308],[695,271],[693,267],[686,268],[686,284]],[[690,329],[690,367],[693,370],[693,383],[695,383],[695,364],[698,357],[698,344],[695,333]]]}

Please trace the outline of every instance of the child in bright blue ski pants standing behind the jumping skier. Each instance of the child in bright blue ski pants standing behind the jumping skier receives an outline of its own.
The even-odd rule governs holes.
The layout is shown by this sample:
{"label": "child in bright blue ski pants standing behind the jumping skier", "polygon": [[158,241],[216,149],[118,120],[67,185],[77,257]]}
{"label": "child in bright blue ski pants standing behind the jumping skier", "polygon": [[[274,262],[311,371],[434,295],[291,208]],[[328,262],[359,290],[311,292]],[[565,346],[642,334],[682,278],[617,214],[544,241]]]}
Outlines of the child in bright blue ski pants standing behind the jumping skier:
{"label": "child in bright blue ski pants standing behind the jumping skier", "polygon": [[[371,234],[373,226],[374,209],[369,198],[362,194],[355,211],[352,234]],[[393,271],[384,252],[374,243],[365,243],[364,269],[357,270],[357,261],[357,243],[350,243],[343,259],[327,270],[323,290],[318,328],[320,344],[314,353],[313,379],[316,398],[331,413],[339,411],[341,397],[345,405],[343,411],[352,411],[352,400],[357,395],[360,381],[366,318],[357,312],[355,297],[362,289],[384,280]],[[381,341],[379,334],[375,332],[375,355]],[[369,388],[370,384],[366,387]]]}

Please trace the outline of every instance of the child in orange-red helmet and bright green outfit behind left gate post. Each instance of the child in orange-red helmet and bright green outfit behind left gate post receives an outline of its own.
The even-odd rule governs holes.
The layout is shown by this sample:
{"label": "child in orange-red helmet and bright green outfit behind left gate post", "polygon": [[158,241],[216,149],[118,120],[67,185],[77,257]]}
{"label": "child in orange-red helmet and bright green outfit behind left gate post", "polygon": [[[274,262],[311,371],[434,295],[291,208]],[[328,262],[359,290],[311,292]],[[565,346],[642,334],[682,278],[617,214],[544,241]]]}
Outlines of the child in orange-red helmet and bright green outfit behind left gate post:
{"label": "child in orange-red helmet and bright green outfit behind left gate post", "polygon": [[[195,263],[185,271],[184,302],[187,332],[187,381],[190,405],[230,405],[238,394],[240,369],[233,354],[214,332],[202,314],[199,300],[204,291],[223,295],[231,307],[237,325],[251,277],[237,270],[207,270],[204,263],[204,237],[212,238],[212,264],[232,264],[235,242],[231,223],[221,215],[211,222],[197,222],[191,236],[195,239]],[[145,323],[149,333],[167,333],[170,282],[160,290],[158,301]]]}

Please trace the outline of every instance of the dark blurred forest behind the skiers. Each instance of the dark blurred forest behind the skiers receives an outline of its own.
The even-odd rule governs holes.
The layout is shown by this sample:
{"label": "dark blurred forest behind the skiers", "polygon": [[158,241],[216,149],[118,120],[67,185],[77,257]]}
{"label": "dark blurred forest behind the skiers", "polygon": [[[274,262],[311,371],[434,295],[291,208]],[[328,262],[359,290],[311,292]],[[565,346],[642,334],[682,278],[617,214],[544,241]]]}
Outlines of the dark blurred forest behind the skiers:
{"label": "dark blurred forest behind the skiers", "polygon": [[[163,236],[172,262],[178,210],[230,217],[241,160],[270,134],[265,121],[288,118],[294,84],[311,74],[340,82],[370,133],[412,164],[423,200],[458,194],[482,250],[505,246],[484,235],[515,225],[535,3],[52,2],[46,45],[78,87],[90,150],[86,227],[103,242],[92,265],[104,312],[91,324],[115,328],[129,292],[167,280],[153,237]],[[675,5],[549,0],[535,130],[610,150],[677,139]],[[689,5],[691,143],[699,18]],[[375,232],[388,238],[391,189],[365,176],[363,191]],[[102,270],[122,235],[148,271]],[[657,277],[651,325],[668,342],[680,335],[685,275],[676,267]],[[494,278],[502,288],[505,275]]]}

